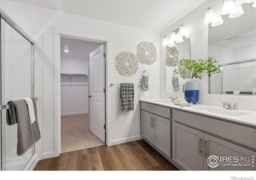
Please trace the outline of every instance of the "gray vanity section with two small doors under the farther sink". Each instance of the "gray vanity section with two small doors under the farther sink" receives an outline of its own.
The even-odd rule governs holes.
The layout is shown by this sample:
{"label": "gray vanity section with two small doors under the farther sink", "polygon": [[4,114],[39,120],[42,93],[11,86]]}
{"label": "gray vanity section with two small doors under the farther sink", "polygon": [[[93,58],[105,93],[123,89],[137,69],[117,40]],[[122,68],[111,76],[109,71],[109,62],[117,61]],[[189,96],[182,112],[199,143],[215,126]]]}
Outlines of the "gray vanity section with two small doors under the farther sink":
{"label": "gray vanity section with two small doors under the farther sink", "polygon": [[[148,106],[149,105],[149,106]],[[150,110],[148,107],[154,108],[152,104],[144,104],[142,107],[145,110]],[[158,108],[164,108],[158,106]],[[156,114],[141,110],[141,135],[150,142],[155,148],[163,152],[169,158],[171,157],[171,121],[170,119],[160,117]],[[154,109],[155,110],[155,109]],[[170,116],[170,109],[161,109]],[[156,111],[153,111],[156,112]]]}

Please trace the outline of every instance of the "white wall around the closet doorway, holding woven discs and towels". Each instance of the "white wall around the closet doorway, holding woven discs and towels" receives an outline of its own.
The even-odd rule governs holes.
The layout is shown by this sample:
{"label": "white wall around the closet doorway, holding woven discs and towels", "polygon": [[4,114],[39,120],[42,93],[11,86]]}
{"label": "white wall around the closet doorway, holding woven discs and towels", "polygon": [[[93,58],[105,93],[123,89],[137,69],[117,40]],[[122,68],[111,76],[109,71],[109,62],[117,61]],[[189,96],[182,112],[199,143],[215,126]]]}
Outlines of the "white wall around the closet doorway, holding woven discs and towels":
{"label": "white wall around the closet doorway, holding woven discs and towels", "polygon": [[[46,8],[39,8],[15,1],[1,0],[1,8],[12,17],[26,32],[43,34],[43,157],[52,157],[54,152],[54,49],[52,27],[64,28],[83,32],[90,37],[110,39],[110,79],[112,83],[132,82],[141,83],[142,71],[149,72],[149,81],[152,90],[142,91],[135,87],[134,111],[121,112],[120,87],[109,86],[111,104],[108,112],[110,144],[118,144],[136,140],[140,136],[140,105],[139,94],[159,94],[160,92],[160,58],[159,34],[119,24],[104,22],[74,14],[58,12]],[[138,72],[133,76],[122,76],[115,65],[116,55],[122,51],[136,54],[137,46],[142,41],[152,42],[156,46],[158,56],[151,65],[138,63]],[[164,88],[165,89],[165,88]]]}

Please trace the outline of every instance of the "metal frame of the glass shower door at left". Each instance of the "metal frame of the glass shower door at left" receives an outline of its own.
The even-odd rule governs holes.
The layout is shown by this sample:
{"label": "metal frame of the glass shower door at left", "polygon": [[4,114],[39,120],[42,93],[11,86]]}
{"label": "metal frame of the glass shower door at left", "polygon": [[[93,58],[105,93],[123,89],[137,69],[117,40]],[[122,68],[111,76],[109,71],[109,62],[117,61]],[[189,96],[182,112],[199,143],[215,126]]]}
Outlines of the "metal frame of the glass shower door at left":
{"label": "metal frame of the glass shower door at left", "polygon": [[[4,22],[6,22],[9,26],[11,26],[16,32],[18,32],[23,38],[25,38],[31,45],[31,96],[34,97],[34,59],[35,59],[35,53],[34,53],[34,44],[35,44],[35,41],[24,31],[22,30],[22,28],[20,28],[20,26],[18,26],[18,24],[16,24],[14,22],[14,20],[12,20],[12,18],[10,18],[10,16],[8,16],[6,14],[6,12],[4,12],[4,10],[2,10],[0,8],[0,23],[2,23],[2,20],[4,20]],[[1,26],[1,24],[0,24]],[[1,29],[1,28],[0,28]],[[0,32],[1,33],[1,32]],[[1,37],[1,35],[0,35]],[[1,40],[0,40],[0,48],[2,44],[1,44]],[[2,62],[2,52],[1,52],[1,49],[0,49],[0,60]],[[0,62],[0,64],[1,64]],[[0,70],[1,70],[1,73],[2,73],[2,67],[0,65]],[[0,78],[2,78],[0,76]],[[1,86],[1,94],[0,94],[0,99],[1,99],[1,112],[2,112],[2,109],[5,109],[5,108],[2,108],[2,85]],[[1,130],[0,130],[1,134],[0,134],[0,138],[1,138],[1,170],[3,168],[3,160],[2,160],[2,115],[1,115]],[[4,141],[5,143],[5,141]],[[35,146],[32,146],[32,155],[30,156],[30,158],[27,160],[27,162],[23,165],[23,167],[21,168],[21,170],[24,170],[26,168],[26,166],[30,163],[30,161],[33,159],[34,155],[35,155]]]}

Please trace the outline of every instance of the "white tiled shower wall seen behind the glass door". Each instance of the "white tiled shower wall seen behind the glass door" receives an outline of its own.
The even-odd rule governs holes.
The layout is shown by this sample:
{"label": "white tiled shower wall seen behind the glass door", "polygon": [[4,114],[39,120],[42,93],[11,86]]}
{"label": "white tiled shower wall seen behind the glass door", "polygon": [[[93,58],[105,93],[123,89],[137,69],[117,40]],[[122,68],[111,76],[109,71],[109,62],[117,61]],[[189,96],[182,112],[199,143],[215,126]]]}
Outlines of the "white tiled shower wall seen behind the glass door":
{"label": "white tiled shower wall seen behind the glass door", "polygon": [[[31,44],[27,42],[18,32],[12,29],[8,24],[5,24],[4,37],[4,96],[3,103],[6,104],[11,98],[31,96],[31,82],[25,82],[25,72],[31,74],[31,59],[25,59],[25,54],[31,54]],[[12,59],[14,58],[14,59]],[[31,76],[31,75],[30,75]],[[3,80],[3,78],[2,78]],[[2,114],[5,116],[5,114]],[[3,117],[3,119],[5,119]],[[13,126],[5,126],[5,159],[6,170],[9,169],[8,162],[10,159],[20,160],[22,157],[17,157],[17,124]],[[32,150],[28,150],[27,156],[31,156]],[[25,155],[25,156],[26,156]],[[21,165],[22,166],[22,165]]]}

